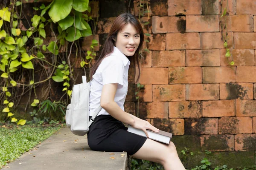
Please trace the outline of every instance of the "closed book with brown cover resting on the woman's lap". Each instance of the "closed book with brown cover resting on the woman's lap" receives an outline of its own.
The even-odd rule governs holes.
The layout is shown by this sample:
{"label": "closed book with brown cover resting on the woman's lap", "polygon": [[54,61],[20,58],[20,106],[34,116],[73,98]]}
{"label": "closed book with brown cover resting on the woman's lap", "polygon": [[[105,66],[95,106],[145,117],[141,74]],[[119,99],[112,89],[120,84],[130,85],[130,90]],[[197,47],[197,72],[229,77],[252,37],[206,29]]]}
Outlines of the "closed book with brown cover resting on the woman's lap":
{"label": "closed book with brown cover resting on the woman's lap", "polygon": [[[147,136],[143,130],[131,127],[130,125],[128,125],[127,131],[131,132],[131,133],[135,133],[140,136],[144,136],[147,138]],[[165,144],[169,144],[172,139],[172,133],[168,133],[163,130],[159,130],[159,132],[154,132],[154,131],[147,129],[147,132],[148,132],[149,139],[152,139],[152,140],[155,140],[158,142],[163,142]]]}

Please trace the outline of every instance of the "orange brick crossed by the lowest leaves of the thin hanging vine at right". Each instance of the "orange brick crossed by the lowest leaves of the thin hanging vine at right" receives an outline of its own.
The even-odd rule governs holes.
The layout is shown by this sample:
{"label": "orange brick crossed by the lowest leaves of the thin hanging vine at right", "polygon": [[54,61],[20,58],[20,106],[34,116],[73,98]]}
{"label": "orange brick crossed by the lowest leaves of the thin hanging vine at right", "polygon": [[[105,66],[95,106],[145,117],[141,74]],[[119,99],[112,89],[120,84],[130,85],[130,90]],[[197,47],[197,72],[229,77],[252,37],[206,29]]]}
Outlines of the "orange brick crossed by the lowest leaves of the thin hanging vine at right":
{"label": "orange brick crossed by the lowest leaves of the thin hanging vine at right", "polygon": [[[226,49],[221,49],[221,66],[229,65],[231,62],[231,57],[225,57]],[[230,53],[233,55],[234,65],[239,66],[250,66],[254,63],[254,50],[250,49],[231,49]]]}

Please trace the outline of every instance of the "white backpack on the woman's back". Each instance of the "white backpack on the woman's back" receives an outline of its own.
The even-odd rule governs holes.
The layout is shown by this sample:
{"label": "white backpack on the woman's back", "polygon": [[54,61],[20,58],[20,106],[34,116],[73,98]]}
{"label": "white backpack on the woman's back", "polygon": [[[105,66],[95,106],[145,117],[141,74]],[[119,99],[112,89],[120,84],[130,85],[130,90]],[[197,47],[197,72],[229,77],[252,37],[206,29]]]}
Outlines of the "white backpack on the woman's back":
{"label": "white backpack on the woman's back", "polygon": [[78,136],[84,136],[89,131],[89,127],[102,109],[96,109],[92,118],[89,120],[90,103],[90,82],[82,76],[83,83],[74,85],[71,94],[71,103],[67,106],[66,124],[71,132]]}

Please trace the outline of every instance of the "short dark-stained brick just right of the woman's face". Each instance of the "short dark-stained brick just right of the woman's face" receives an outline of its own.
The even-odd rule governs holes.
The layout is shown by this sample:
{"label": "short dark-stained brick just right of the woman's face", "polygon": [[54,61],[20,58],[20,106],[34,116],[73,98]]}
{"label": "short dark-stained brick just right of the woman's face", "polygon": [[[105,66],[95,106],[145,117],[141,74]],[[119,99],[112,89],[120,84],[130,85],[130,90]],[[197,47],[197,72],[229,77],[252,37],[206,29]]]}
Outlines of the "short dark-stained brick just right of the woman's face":
{"label": "short dark-stained brick just right of the woman's face", "polygon": [[148,50],[165,50],[166,49],[166,34],[153,34],[148,37]]}

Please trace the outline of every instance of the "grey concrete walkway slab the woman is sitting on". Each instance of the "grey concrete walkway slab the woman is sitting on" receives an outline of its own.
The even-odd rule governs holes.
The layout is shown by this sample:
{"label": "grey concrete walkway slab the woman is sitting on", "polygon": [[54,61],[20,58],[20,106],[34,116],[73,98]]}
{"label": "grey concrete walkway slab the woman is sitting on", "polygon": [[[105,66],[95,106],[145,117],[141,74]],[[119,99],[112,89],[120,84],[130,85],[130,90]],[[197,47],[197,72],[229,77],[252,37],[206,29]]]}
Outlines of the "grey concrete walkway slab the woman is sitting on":
{"label": "grey concrete walkway slab the woman is sitting on", "polygon": [[126,152],[90,150],[87,136],[61,128],[41,144],[10,162],[6,170],[126,170]]}

